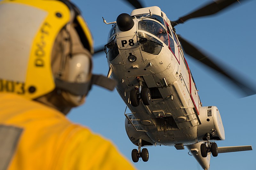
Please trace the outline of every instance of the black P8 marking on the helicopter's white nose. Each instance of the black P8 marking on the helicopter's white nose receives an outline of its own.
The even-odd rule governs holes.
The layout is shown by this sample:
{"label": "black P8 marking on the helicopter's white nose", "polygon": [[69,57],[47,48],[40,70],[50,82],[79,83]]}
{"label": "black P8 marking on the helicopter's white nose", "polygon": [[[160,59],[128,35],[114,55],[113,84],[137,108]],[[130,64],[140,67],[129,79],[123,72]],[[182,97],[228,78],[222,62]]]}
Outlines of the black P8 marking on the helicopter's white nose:
{"label": "black P8 marking on the helicopter's white nose", "polygon": [[117,38],[117,43],[119,49],[129,49],[139,46],[136,36]]}

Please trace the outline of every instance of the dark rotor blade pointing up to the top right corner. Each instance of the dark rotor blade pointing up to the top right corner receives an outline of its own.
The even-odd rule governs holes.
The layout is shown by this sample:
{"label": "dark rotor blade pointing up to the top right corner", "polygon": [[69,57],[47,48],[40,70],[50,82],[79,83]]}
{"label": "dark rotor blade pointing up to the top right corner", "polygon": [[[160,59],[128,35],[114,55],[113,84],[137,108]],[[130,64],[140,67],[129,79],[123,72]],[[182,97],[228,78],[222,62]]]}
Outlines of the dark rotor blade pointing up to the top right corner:
{"label": "dark rotor blade pointing up to the top right corner", "polygon": [[172,26],[183,23],[186,20],[191,19],[191,18],[197,18],[197,17],[203,17],[203,16],[215,14],[215,13],[223,10],[224,8],[228,7],[229,5],[231,5],[235,2],[238,4],[241,1],[245,1],[245,0],[218,0],[211,4],[207,4],[207,5],[203,6],[202,8],[199,8],[196,11],[189,13],[186,16],[179,18],[177,21],[172,21]]}

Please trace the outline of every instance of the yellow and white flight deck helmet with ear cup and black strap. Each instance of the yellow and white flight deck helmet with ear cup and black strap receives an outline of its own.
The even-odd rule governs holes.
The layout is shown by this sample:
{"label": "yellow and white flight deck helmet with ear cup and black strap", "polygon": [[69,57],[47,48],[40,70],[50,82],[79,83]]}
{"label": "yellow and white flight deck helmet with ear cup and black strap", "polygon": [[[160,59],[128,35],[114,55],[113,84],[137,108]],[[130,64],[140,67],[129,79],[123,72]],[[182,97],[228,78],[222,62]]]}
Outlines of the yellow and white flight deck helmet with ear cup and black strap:
{"label": "yellow and white flight deck helmet with ear cup and black strap", "polygon": [[[79,10],[68,0],[3,0],[0,24],[0,92],[35,99],[55,88],[86,96],[92,84],[115,87],[112,80],[92,75],[92,35]],[[88,52],[86,56],[76,52],[72,40],[69,45],[64,42],[58,47],[63,53],[60,70],[53,75],[52,50],[63,29],[67,39],[70,30],[75,30],[80,45]],[[68,54],[64,52],[67,49]]]}

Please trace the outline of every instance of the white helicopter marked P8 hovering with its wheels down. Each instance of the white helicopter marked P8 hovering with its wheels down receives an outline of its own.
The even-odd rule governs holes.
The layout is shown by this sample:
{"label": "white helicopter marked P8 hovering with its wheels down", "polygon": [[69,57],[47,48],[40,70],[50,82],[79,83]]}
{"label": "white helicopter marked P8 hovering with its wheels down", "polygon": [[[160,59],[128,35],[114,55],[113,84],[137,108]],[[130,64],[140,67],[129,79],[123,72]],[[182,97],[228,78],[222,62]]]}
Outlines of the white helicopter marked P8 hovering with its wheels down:
{"label": "white helicopter marked P8 hovering with its wheels down", "polygon": [[[206,152],[208,160],[210,152],[212,152],[213,156],[218,155],[216,148],[218,148],[219,153],[224,153],[223,150],[228,150],[227,148],[217,147],[216,143],[212,142],[214,140],[225,139],[222,123],[216,127],[213,125],[209,132],[203,132],[201,136],[197,134],[198,131],[199,133],[202,132],[200,127],[203,128],[206,126],[205,123],[213,122],[214,124],[214,122],[221,122],[221,119],[217,107],[202,106],[191,70],[188,67],[183,52],[184,50],[185,53],[193,57],[193,54],[191,54],[189,50],[192,49],[193,51],[195,48],[180,35],[176,35],[175,24],[179,22],[182,23],[187,19],[182,17],[182,21],[170,21],[164,12],[157,7],[134,10],[130,17],[135,23],[132,26],[128,23],[128,26],[132,27],[130,30],[125,30],[127,26],[124,26],[124,30],[120,30],[122,27],[118,25],[120,18],[116,19],[117,24],[110,23],[113,24],[113,26],[108,36],[108,43],[105,45],[105,51],[109,64],[108,76],[111,75],[113,79],[118,81],[116,87],[117,91],[132,111],[132,114],[125,114],[125,125],[130,140],[132,143],[138,145],[139,149],[139,151],[136,151],[137,154],[135,154],[135,151],[133,152],[133,161],[136,161],[138,157],[142,157],[142,160],[147,160],[148,151],[140,151],[142,146],[147,145],[176,145],[176,149],[184,149],[184,146],[187,146],[192,155],[198,156],[198,153],[200,153],[205,156]],[[156,35],[159,27],[162,27],[163,30],[163,40]],[[204,55],[200,53],[194,56],[200,55],[204,58]],[[121,58],[118,60],[118,57]],[[156,61],[154,61],[154,59]],[[220,67],[216,64],[214,65],[211,60],[207,60],[205,63],[207,62],[210,62],[209,65],[213,65],[212,67],[214,67],[215,70],[220,69]],[[122,68],[123,66],[125,67]],[[167,71],[170,70],[172,71],[167,73]],[[164,71],[166,73],[164,73]],[[219,72],[235,82],[240,89],[244,89],[246,95],[255,94],[253,89],[240,83],[223,70]],[[160,74],[164,76],[160,76]],[[170,74],[174,78],[176,77],[175,81],[177,81],[178,84],[170,78]],[[182,96],[185,97],[182,99]],[[176,105],[175,101],[177,102]],[[175,107],[172,106],[172,104],[174,104]],[[208,111],[211,113],[208,114]],[[208,121],[207,117],[211,114],[218,120]],[[188,127],[184,124],[187,124]],[[208,126],[206,127],[209,128]],[[216,130],[218,128],[219,130]],[[173,133],[180,131],[180,129],[182,129],[183,132],[187,129],[194,129],[194,132],[191,132],[191,134],[196,134],[196,137],[191,137],[192,135],[188,132],[189,130],[184,133],[188,133],[195,141],[189,141],[188,138],[184,139],[186,136],[183,136],[184,138],[182,139],[182,134]],[[157,135],[157,133],[160,135]],[[195,143],[197,146],[194,146]],[[207,145],[206,151],[204,143]],[[212,148],[215,148],[215,151]],[[239,148],[238,150],[252,149],[251,146],[236,148]],[[201,150],[204,150],[203,153]],[[142,155],[144,155],[144,158]],[[201,159],[200,155],[197,160],[198,159]],[[208,169],[208,162],[205,163],[203,160],[206,160],[206,158],[199,160],[200,165],[204,169]]]}

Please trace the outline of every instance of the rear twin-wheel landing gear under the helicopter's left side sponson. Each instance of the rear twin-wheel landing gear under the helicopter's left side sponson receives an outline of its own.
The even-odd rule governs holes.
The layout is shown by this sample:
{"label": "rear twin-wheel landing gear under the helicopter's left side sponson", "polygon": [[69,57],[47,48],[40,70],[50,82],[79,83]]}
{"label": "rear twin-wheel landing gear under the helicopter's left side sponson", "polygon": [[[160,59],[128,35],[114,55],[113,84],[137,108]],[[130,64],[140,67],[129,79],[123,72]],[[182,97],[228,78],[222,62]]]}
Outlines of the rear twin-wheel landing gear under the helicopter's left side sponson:
{"label": "rear twin-wheel landing gear under the helicopter's left side sponson", "polygon": [[137,149],[133,149],[132,150],[132,161],[133,162],[138,162],[139,161],[139,158],[142,158],[142,160],[144,162],[147,162],[148,161],[148,158],[149,158],[149,155],[148,155],[148,150],[146,148],[143,148],[141,151],[141,139],[139,139],[139,147],[138,147],[138,150]]}

